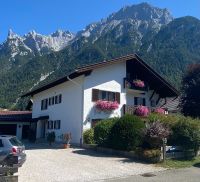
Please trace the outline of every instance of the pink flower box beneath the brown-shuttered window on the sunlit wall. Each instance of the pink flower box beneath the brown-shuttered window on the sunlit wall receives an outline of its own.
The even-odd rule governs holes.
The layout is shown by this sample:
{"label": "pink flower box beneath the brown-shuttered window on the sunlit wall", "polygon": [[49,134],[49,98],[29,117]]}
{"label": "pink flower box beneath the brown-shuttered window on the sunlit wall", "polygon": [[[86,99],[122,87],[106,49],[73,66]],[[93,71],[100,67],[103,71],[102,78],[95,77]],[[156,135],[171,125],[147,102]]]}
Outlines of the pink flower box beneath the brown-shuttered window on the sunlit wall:
{"label": "pink flower box beneath the brown-shuttered window on the sunlit wall", "polygon": [[96,108],[104,112],[113,111],[119,108],[119,104],[116,101],[98,100],[96,102]]}

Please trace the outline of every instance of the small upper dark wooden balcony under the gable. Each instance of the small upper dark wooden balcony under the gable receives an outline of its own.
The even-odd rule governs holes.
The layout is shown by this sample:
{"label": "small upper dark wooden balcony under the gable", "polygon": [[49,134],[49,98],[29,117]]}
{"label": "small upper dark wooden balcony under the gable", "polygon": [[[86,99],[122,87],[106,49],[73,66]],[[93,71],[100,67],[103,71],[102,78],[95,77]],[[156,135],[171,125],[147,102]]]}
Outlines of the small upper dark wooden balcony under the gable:
{"label": "small upper dark wooden balcony under the gable", "polygon": [[134,84],[134,79],[127,79],[124,78],[124,88],[127,89],[127,91],[132,91],[132,92],[138,92],[138,93],[144,93],[148,91],[148,84],[144,82],[144,86],[137,86]]}

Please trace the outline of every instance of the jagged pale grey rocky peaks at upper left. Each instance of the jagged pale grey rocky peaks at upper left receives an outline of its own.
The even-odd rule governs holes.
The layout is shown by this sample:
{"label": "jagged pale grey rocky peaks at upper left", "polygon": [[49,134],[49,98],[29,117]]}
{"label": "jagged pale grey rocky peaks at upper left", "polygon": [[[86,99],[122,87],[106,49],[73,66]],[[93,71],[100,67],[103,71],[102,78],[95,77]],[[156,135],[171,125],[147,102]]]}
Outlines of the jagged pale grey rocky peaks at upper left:
{"label": "jagged pale grey rocky peaks at upper left", "polygon": [[74,36],[73,33],[62,30],[47,36],[33,30],[19,36],[10,29],[7,40],[0,45],[0,55],[13,59],[15,56],[36,56],[59,51],[66,47]]}

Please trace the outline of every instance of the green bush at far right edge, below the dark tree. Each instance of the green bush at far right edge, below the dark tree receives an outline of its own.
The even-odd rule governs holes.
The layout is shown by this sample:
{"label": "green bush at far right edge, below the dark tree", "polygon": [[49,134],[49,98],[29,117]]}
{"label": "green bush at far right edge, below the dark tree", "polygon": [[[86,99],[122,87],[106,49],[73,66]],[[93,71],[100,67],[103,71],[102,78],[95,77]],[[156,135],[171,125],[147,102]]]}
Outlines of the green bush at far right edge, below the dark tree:
{"label": "green bush at far right edge, below the dark tree", "polygon": [[183,149],[192,149],[195,153],[200,146],[200,123],[191,118],[184,118],[172,127],[171,142],[182,146]]}

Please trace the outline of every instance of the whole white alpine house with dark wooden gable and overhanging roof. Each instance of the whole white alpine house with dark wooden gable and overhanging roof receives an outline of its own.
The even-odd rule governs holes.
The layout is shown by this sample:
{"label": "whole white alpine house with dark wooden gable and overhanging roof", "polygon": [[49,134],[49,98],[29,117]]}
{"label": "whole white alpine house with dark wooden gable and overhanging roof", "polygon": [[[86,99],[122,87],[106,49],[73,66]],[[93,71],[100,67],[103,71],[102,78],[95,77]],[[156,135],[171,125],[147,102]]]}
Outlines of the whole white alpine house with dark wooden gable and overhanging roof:
{"label": "whole white alpine house with dark wooden gable and overhanging roof", "polygon": [[[136,79],[144,81],[144,86],[136,87]],[[161,106],[162,100],[164,107],[165,99],[177,97],[178,91],[134,54],[78,68],[25,96],[32,96],[31,128],[37,139],[54,131],[60,140],[60,135],[71,132],[72,142],[82,143],[83,131],[96,122],[133,114],[136,105],[152,109]],[[119,108],[100,111],[95,107],[98,100],[116,101]]]}

